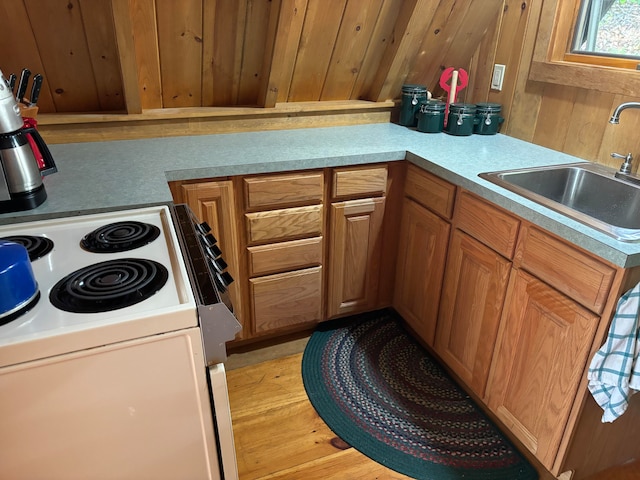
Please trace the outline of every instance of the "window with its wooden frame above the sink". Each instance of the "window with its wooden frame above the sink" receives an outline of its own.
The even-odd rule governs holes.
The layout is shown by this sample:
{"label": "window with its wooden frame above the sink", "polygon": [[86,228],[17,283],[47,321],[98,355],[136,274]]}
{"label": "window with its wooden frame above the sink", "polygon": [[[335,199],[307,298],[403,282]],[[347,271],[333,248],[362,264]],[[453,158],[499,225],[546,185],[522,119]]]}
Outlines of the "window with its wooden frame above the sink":
{"label": "window with its wooden frame above the sink", "polygon": [[545,0],[529,78],[640,97],[640,0]]}

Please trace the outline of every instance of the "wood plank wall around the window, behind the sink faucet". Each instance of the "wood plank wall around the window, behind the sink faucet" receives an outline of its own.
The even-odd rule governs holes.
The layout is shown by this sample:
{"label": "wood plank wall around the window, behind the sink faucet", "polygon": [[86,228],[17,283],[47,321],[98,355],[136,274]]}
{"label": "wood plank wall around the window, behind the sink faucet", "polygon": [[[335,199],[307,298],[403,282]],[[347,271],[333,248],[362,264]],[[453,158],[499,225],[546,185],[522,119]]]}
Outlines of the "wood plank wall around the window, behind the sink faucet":
{"label": "wood plank wall around the window, behind the sink faucet", "polygon": [[[549,1],[549,0],[546,0]],[[505,88],[490,91],[489,101],[503,103],[503,133],[597,163],[619,167],[612,152],[640,157],[640,110],[625,110],[619,125],[609,124],[617,105],[638,98],[597,90],[528,80],[536,34],[553,21],[542,0],[505,0],[495,63],[507,65]],[[638,160],[633,170],[638,170]]]}

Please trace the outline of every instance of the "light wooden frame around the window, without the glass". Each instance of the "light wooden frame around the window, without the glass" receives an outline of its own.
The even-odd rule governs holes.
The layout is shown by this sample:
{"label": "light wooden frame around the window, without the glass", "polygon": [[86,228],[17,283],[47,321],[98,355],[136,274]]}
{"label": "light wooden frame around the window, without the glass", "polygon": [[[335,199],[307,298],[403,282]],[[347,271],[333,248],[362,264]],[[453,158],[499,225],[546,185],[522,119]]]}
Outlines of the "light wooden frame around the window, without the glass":
{"label": "light wooden frame around the window, without the glass", "polygon": [[529,79],[640,97],[640,71],[628,68],[637,61],[570,53],[579,9],[580,0],[544,1]]}

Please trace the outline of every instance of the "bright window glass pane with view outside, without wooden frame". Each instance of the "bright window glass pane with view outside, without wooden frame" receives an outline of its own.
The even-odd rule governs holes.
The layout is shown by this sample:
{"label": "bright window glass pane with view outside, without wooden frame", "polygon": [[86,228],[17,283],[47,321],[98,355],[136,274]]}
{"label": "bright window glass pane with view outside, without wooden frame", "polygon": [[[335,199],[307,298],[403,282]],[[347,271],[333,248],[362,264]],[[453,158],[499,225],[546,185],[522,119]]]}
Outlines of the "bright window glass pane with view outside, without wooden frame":
{"label": "bright window glass pane with view outside, without wooden frame", "polygon": [[582,0],[571,53],[640,60],[640,0]]}

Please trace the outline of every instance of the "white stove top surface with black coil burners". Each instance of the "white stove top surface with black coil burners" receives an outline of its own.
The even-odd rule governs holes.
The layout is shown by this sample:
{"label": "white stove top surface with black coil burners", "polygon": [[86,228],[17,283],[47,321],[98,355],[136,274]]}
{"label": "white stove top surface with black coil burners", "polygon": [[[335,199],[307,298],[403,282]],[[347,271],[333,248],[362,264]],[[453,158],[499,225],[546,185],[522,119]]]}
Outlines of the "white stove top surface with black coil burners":
{"label": "white stove top surface with black coil burners", "polygon": [[0,326],[0,366],[198,324],[168,207],[8,225],[0,238],[33,245],[41,293]]}

